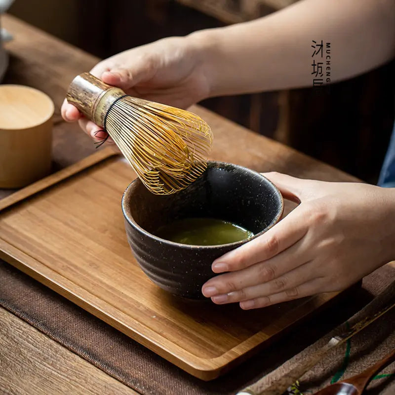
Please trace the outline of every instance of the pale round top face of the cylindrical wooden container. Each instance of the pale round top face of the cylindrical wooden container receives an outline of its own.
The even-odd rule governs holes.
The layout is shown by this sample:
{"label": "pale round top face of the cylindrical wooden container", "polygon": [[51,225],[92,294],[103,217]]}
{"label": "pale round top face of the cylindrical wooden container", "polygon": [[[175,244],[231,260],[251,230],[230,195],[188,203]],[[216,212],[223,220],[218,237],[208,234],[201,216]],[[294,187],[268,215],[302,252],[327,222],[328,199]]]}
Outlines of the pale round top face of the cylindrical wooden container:
{"label": "pale round top face of the cylindrical wooden container", "polygon": [[54,104],[45,93],[23,85],[0,85],[0,129],[28,129],[52,117]]}

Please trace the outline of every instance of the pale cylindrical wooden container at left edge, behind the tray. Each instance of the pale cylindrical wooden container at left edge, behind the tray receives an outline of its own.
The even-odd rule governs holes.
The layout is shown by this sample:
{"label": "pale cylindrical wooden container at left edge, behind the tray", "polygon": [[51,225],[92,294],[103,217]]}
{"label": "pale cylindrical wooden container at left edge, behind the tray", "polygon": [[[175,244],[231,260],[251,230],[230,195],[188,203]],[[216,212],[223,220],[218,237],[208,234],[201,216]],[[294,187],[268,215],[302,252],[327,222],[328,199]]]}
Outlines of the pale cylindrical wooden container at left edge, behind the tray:
{"label": "pale cylindrical wooden container at left edge, behind the tray", "polygon": [[22,188],[49,174],[50,97],[30,86],[0,85],[0,188]]}

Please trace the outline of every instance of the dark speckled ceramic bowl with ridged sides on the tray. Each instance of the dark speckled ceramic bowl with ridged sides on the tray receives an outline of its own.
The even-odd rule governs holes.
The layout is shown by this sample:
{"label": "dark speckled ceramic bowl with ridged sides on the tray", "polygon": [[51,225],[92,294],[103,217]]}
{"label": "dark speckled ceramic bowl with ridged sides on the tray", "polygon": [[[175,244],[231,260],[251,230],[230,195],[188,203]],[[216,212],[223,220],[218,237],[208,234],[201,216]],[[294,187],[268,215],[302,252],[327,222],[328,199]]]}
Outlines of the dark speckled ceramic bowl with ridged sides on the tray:
{"label": "dark speckled ceramic bowl with ridged sides on the tray", "polygon": [[[123,194],[122,211],[130,247],[144,273],[172,294],[203,299],[201,287],[214,276],[214,259],[275,225],[283,200],[261,174],[211,161],[200,178],[173,195],[154,195],[139,179],[134,180]],[[255,236],[213,246],[179,244],[155,236],[159,227],[190,217],[230,221]]]}

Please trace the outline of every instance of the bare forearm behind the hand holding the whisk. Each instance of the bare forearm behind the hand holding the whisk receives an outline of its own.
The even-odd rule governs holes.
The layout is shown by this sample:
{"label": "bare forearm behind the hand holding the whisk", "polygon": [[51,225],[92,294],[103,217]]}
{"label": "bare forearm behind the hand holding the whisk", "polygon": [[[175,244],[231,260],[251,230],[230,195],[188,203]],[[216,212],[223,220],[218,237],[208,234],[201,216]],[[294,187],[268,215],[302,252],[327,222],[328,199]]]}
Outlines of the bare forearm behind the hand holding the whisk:
{"label": "bare forearm behind the hand holding the whisk", "polygon": [[189,39],[204,47],[211,96],[312,86],[312,40],[330,42],[334,82],[394,56],[395,0],[303,0]]}

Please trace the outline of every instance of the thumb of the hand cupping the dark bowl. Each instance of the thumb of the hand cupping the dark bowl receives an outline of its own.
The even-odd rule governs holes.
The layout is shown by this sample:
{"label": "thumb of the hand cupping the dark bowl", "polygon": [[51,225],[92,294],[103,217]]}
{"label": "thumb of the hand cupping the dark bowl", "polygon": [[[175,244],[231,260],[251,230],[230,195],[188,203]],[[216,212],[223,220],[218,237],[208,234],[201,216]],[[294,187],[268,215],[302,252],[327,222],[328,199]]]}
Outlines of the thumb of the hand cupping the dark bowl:
{"label": "thumb of the hand cupping the dark bowl", "polygon": [[287,174],[277,173],[276,171],[262,173],[262,175],[276,185],[284,198],[296,203],[300,203],[302,200],[306,200],[309,197],[309,187],[312,182],[315,182],[312,180],[292,177]]}

